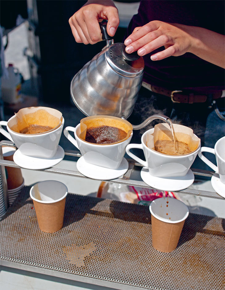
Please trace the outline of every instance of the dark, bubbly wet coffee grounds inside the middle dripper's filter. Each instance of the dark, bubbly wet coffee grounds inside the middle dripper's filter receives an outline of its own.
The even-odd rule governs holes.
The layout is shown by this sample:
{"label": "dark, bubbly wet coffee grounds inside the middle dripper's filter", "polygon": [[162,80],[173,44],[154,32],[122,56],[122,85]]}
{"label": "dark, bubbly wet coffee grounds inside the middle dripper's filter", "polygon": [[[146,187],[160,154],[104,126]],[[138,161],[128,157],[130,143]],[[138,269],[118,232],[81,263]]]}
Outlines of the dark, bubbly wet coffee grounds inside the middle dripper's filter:
{"label": "dark, bubbly wet coffee grounds inside the middle dripper's filter", "polygon": [[85,141],[96,144],[110,144],[124,139],[127,133],[111,126],[91,127],[87,129]]}

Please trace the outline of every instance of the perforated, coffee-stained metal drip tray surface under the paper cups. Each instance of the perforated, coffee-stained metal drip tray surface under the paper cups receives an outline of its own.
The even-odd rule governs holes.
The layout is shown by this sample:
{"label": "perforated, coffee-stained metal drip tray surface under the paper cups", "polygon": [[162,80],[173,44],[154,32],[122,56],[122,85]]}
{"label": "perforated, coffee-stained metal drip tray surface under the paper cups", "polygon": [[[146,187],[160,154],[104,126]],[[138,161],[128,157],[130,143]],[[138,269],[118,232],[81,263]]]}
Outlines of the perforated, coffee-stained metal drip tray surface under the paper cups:
{"label": "perforated, coffee-stained metal drip tray surface under the paper cups", "polygon": [[68,194],[63,228],[47,234],[29,190],[0,222],[1,260],[124,289],[224,289],[224,219],[189,214],[176,250],[161,253],[152,247],[148,206]]}

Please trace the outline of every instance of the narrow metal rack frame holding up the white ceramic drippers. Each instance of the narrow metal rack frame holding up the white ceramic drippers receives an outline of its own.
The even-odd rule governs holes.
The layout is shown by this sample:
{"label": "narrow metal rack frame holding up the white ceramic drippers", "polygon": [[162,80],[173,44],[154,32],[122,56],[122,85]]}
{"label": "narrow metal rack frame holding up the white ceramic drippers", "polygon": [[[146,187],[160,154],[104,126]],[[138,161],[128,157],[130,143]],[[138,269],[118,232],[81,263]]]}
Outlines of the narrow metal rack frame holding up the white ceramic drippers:
{"label": "narrow metal rack frame holding up the white ceramic drippers", "polygon": [[[15,145],[11,141],[1,141],[0,142],[1,178],[2,178],[2,186],[3,186],[3,191],[4,191],[4,200],[5,200],[5,205],[6,205],[6,209],[7,209],[9,207],[9,200],[8,200],[8,192],[7,192],[6,173],[5,173],[4,167],[5,166],[10,166],[10,167],[15,167],[15,168],[21,168],[21,167],[16,165],[13,161],[7,161],[7,160],[3,159],[2,146],[15,147]],[[65,151],[65,155],[74,156],[74,157],[81,157],[82,156],[79,151],[73,151],[73,150]],[[113,180],[109,180],[109,182],[120,183],[120,184],[130,185],[130,186],[152,188],[151,186],[147,185],[143,181],[137,181],[137,180],[130,179],[130,176],[131,176],[131,173],[132,173],[134,166],[142,166],[142,165],[135,162],[133,159],[127,159],[127,161],[129,163],[129,168],[128,168],[128,171],[124,174],[124,176],[122,178],[116,178]],[[213,171],[198,170],[198,169],[193,169],[193,168],[191,168],[191,170],[193,171],[194,175],[211,177],[214,174]],[[54,168],[54,167],[51,167],[48,169],[43,169],[43,170],[38,170],[38,171],[47,172],[47,173],[55,173],[55,174],[63,174],[63,175],[68,175],[68,176],[80,177],[80,178],[87,178],[86,176],[81,174],[79,171],[66,170],[66,169],[60,169],[60,168]],[[197,196],[224,200],[224,198],[222,196],[220,196],[219,194],[217,194],[214,191],[206,191],[206,190],[197,190],[197,189],[187,188],[187,189],[180,190],[177,192],[186,193],[186,194],[194,194]]]}

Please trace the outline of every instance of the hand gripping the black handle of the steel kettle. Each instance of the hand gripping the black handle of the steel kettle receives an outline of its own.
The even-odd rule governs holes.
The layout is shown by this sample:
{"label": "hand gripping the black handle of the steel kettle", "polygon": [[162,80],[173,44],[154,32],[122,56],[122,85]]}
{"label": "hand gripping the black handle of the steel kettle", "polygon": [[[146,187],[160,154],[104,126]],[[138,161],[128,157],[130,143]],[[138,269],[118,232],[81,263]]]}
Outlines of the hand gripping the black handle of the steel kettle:
{"label": "hand gripping the black handle of the steel kettle", "polygon": [[69,19],[76,42],[94,44],[101,41],[99,19],[108,19],[107,33],[114,36],[120,22],[114,3],[111,0],[88,1]]}

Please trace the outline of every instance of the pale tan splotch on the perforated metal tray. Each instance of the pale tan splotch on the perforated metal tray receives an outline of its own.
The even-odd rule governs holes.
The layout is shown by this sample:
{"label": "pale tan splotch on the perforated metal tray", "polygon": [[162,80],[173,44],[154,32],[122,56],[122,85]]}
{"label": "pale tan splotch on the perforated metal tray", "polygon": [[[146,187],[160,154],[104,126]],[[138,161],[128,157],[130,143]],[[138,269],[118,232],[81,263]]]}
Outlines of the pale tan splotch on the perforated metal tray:
{"label": "pale tan splotch on the perforated metal tray", "polygon": [[70,261],[70,264],[74,264],[77,267],[84,266],[85,257],[90,256],[90,254],[95,250],[96,245],[93,242],[82,246],[72,244],[69,247],[63,248],[63,252],[66,254],[66,259]]}

